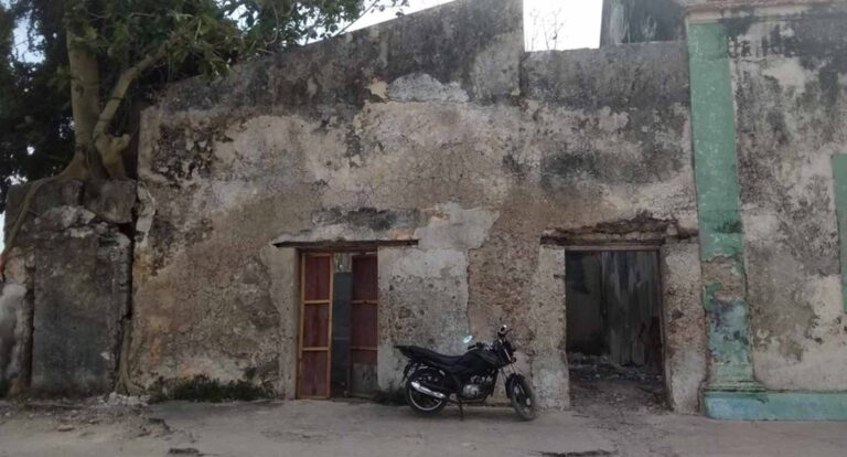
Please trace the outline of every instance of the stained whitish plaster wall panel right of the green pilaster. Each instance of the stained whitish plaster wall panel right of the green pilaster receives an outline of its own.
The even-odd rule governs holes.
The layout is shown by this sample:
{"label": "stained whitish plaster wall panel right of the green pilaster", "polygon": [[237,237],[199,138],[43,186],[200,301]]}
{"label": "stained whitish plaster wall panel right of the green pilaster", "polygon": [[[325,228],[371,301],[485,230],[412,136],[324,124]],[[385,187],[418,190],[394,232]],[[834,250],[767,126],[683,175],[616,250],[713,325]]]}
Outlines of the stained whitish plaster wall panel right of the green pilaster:
{"label": "stained whitish plaster wall panel right of the green pilaster", "polygon": [[780,12],[726,22],[754,375],[774,390],[845,390],[832,156],[847,152],[847,8]]}

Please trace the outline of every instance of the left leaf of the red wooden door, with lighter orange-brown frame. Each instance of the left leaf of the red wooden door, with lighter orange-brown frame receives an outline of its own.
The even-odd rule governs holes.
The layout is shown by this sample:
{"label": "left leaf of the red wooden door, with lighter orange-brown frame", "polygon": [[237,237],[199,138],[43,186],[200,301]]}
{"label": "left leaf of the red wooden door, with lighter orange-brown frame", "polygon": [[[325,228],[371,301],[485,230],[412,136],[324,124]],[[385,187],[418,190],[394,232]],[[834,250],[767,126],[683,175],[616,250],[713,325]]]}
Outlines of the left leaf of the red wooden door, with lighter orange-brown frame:
{"label": "left leaf of the red wooden door, with lighter orange-brown frame", "polygon": [[302,254],[298,398],[330,397],[332,270],[332,254]]}

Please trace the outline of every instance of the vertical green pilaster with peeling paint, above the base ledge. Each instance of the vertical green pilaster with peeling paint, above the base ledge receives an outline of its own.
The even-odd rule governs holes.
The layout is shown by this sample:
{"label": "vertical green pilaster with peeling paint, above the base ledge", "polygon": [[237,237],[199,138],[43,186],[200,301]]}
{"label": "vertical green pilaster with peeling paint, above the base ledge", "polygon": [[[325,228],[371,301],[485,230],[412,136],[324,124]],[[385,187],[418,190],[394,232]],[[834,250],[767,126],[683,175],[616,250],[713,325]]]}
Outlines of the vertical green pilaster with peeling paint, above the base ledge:
{"label": "vertical green pilaster with peeling paint, above the base ledge", "polygon": [[733,92],[723,25],[689,24],[688,54],[709,386],[761,390],[753,381]]}

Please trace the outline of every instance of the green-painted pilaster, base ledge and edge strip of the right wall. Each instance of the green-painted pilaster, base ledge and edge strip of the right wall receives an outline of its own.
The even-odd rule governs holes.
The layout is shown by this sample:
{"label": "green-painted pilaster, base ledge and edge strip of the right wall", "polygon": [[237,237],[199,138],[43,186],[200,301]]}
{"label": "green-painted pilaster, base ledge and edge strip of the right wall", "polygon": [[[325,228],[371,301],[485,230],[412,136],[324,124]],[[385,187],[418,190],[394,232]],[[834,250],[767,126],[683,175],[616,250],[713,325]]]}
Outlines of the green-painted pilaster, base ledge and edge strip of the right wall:
{"label": "green-painted pilaster, base ledge and edge strip of the right wall", "polygon": [[[847,392],[772,392],[753,379],[735,94],[725,25],[689,23],[688,51],[703,300],[711,355],[704,412],[721,419],[847,421]],[[847,155],[833,157],[833,174],[841,283],[847,290]],[[847,310],[847,300],[844,306]]]}

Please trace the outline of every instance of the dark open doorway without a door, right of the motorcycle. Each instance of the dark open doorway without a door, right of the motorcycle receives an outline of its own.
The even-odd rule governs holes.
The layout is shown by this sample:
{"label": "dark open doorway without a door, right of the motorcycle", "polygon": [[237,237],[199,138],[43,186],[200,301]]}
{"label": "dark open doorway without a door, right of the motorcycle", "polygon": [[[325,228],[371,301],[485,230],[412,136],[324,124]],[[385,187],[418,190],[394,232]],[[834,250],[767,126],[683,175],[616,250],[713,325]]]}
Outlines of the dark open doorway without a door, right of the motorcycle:
{"label": "dark open doorway without a door, right of the motorcycle", "polygon": [[666,403],[658,252],[566,255],[567,352],[575,405]]}

